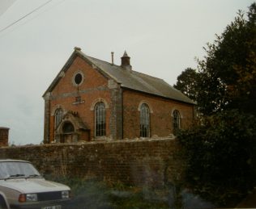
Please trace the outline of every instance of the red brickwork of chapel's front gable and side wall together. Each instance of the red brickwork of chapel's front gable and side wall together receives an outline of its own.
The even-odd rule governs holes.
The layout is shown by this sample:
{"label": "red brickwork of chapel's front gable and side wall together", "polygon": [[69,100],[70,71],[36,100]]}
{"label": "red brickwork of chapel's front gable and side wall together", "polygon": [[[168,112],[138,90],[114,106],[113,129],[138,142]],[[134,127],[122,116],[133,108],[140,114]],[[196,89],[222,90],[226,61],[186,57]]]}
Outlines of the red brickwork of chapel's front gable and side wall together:
{"label": "red brickwork of chapel's front gable and side wall together", "polygon": [[[79,87],[73,84],[73,77],[78,72],[82,72],[84,77]],[[91,130],[90,136],[94,137],[95,112],[91,107],[98,98],[105,99],[109,106],[106,109],[106,136],[113,139],[139,137],[138,108],[143,101],[147,102],[152,111],[151,136],[169,136],[173,133],[172,112],[175,109],[181,113],[182,128],[191,123],[194,108],[191,105],[132,90],[121,90],[120,86],[109,88],[108,79],[79,56],[75,58],[50,97],[49,142],[54,139],[54,111],[59,106],[63,111],[78,112],[79,117]],[[74,104],[77,96],[84,102]],[[45,123],[48,123],[48,120]]]}

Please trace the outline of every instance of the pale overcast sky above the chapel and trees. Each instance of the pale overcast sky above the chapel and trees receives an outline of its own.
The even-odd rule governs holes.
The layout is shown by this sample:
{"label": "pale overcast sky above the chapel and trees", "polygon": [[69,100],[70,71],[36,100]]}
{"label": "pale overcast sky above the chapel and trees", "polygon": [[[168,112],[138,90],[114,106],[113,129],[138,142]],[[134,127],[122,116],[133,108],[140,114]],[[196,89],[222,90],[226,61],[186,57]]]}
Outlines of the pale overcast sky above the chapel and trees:
{"label": "pale overcast sky above the chapel and trees", "polygon": [[237,10],[247,11],[252,2],[0,0],[0,127],[10,127],[11,144],[41,143],[42,94],[75,46],[109,62],[113,51],[117,65],[126,50],[134,70],[173,85],[184,69],[196,68],[194,58],[205,55],[203,47]]}

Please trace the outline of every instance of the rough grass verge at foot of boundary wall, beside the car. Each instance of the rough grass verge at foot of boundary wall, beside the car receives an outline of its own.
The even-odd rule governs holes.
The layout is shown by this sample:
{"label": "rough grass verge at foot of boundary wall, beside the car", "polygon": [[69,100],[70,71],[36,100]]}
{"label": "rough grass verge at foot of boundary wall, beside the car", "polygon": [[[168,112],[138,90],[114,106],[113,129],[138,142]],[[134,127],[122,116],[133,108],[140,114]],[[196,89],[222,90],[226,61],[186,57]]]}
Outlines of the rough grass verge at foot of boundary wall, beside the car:
{"label": "rough grass verge at foot of boundary wall, beside the car", "polygon": [[147,186],[127,186],[122,182],[81,178],[47,178],[70,186],[72,201],[69,209],[210,209],[211,203],[179,186],[161,189]]}

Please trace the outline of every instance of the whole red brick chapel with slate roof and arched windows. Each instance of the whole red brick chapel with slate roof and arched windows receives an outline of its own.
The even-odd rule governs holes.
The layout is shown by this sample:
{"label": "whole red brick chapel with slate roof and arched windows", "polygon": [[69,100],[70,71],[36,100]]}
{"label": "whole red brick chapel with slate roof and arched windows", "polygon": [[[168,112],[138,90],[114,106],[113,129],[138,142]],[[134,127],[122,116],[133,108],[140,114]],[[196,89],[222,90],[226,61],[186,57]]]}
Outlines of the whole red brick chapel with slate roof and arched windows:
{"label": "whole red brick chapel with slate roof and arched windows", "polygon": [[194,119],[194,102],[164,80],[75,48],[43,95],[44,143],[176,135]]}

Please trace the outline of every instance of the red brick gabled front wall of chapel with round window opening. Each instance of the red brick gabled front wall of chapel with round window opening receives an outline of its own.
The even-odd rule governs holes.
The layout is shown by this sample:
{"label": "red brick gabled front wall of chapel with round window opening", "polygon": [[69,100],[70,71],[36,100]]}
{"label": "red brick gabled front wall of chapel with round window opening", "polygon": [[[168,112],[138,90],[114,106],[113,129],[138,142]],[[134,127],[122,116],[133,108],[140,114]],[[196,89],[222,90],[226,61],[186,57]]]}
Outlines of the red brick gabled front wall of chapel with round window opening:
{"label": "red brick gabled front wall of chapel with round window opening", "polygon": [[[78,71],[83,72],[83,84],[79,87],[74,86],[72,81],[74,74]],[[79,93],[81,100],[84,102],[74,105],[75,97],[78,95],[79,90],[83,90],[83,93]],[[51,100],[51,118],[50,118],[50,140],[54,137],[54,110],[61,105],[64,111],[79,112],[79,117],[87,124],[91,130],[90,136],[95,136],[94,127],[94,111],[91,111],[92,103],[97,98],[104,98],[110,106],[110,92],[108,89],[108,79],[100,74],[96,69],[92,69],[92,66],[88,65],[79,56],[70,65],[70,69],[66,71],[66,74],[52,92]],[[109,109],[106,109],[106,135],[109,136]]]}

